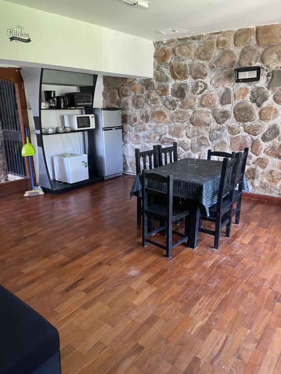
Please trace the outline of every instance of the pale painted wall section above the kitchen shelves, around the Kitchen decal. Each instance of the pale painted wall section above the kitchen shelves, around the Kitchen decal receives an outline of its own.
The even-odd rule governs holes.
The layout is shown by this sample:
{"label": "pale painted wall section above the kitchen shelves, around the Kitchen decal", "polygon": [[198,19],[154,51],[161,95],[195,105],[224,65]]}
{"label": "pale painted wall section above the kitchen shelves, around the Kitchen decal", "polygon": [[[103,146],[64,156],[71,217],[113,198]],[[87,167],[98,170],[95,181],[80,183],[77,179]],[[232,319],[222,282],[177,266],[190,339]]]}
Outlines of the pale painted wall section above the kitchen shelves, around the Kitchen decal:
{"label": "pale painted wall section above the kitchen shelves, around the Kitchen decal", "polygon": [[[0,0],[0,63],[85,73],[152,77],[150,40]],[[23,26],[31,42],[10,41]]]}

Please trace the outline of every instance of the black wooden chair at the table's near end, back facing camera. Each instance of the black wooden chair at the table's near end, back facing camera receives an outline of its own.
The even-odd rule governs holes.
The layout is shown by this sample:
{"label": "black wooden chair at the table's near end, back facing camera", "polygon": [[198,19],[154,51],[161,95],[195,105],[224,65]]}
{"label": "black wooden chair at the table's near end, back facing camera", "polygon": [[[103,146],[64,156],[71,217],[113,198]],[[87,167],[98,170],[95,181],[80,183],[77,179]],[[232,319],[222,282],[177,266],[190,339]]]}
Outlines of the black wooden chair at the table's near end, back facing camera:
{"label": "black wooden chair at the table's near end, back facing camera", "polygon": [[[166,192],[161,192],[161,186],[166,186]],[[158,189],[155,189],[158,188]],[[172,257],[172,248],[183,242],[188,242],[189,230],[189,210],[183,206],[177,205],[173,202],[173,176],[161,176],[156,173],[148,173],[142,171],[142,245],[147,246],[147,243],[154,244],[166,251],[166,257]],[[148,232],[147,222],[148,218],[155,218],[159,220],[160,227],[152,228]],[[172,229],[173,222],[185,218],[184,234]],[[164,223],[164,225],[161,225]],[[148,239],[149,236],[157,232],[166,232],[166,245]],[[176,243],[172,244],[172,234],[181,237]]]}

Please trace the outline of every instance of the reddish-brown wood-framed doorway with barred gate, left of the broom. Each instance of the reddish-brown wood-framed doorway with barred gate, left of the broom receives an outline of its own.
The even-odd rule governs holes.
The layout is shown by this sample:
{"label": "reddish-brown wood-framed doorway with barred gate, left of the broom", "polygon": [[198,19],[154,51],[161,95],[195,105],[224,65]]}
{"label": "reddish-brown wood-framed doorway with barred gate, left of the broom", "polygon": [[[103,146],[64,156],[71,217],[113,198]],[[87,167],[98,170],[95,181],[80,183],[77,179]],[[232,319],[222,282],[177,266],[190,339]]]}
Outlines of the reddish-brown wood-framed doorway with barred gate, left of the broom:
{"label": "reddish-brown wood-framed doorway with barred gate, left of the broom", "polygon": [[21,156],[26,130],[30,138],[20,69],[0,68],[0,197],[31,187],[30,169]]}

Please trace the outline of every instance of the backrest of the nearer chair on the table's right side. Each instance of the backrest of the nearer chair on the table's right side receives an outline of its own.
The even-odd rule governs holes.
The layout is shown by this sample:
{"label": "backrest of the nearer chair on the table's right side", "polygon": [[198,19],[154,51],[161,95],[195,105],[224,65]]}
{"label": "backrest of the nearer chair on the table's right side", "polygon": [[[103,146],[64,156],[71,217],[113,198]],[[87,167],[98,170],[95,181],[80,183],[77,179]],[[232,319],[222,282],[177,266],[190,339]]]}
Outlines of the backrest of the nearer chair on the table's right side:
{"label": "backrest of the nearer chair on the table's right side", "polygon": [[223,197],[228,195],[228,200],[233,199],[234,189],[236,187],[237,167],[241,154],[236,153],[234,158],[224,158],[221,168],[221,180],[218,192],[217,212],[221,210]]}

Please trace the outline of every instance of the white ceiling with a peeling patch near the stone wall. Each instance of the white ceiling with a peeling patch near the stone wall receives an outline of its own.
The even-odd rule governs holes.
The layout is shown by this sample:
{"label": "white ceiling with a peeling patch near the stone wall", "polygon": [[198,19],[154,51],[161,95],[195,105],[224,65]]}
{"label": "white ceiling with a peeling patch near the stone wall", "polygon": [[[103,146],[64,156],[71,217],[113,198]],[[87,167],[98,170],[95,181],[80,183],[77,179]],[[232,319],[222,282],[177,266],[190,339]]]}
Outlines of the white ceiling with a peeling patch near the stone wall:
{"label": "white ceiling with a peeling patch near the stone wall", "polygon": [[6,1],[150,40],[281,22],[280,0],[147,0],[145,10],[120,0]]}

